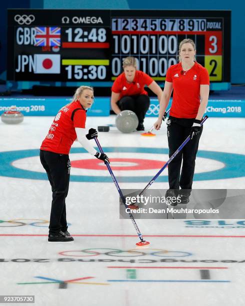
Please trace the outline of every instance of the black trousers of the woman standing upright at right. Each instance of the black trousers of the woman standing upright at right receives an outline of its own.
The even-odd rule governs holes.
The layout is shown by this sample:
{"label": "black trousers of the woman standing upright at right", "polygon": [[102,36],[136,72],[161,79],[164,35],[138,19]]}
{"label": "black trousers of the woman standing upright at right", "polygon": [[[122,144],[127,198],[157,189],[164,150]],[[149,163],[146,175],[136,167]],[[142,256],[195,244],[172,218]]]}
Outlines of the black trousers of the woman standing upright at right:
{"label": "black trousers of the woman standing upright at right", "polygon": [[[175,118],[169,116],[167,120],[169,157],[188,137],[193,121],[194,119]],[[195,169],[195,156],[197,153],[202,128],[203,127],[201,126],[200,133],[190,139],[182,150],[178,152],[178,154],[168,164],[169,189],[179,189],[179,187],[181,189],[191,189]]]}

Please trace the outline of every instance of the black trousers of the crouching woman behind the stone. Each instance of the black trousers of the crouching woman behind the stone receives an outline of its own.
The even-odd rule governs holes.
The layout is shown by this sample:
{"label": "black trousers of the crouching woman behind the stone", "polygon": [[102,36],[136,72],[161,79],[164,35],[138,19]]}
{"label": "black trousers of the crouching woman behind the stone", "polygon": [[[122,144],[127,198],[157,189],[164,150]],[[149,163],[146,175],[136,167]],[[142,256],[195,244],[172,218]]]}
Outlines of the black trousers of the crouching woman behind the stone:
{"label": "black trousers of the crouching woman behind the stone", "polygon": [[146,111],[149,108],[149,97],[146,94],[141,95],[126,95],[118,102],[120,110],[132,110],[138,117],[138,123],[143,123]]}

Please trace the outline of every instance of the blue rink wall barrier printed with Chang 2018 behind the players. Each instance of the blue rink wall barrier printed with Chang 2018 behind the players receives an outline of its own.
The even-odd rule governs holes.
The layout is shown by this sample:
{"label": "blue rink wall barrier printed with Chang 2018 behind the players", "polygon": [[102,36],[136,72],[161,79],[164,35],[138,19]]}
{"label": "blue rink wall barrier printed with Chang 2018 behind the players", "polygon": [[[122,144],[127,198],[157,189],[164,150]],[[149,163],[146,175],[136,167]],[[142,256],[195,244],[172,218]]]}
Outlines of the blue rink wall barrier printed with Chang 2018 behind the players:
{"label": "blue rink wall barrier printed with Chang 2018 behind the players", "polygon": [[[63,97],[3,97],[0,98],[0,114],[10,108],[22,112],[27,116],[54,116],[57,111],[71,101]],[[171,105],[171,99],[168,107]],[[97,97],[90,109],[88,116],[109,116],[110,98]],[[159,112],[157,99],[150,99],[150,106],[146,116],[156,117]],[[245,117],[245,100],[209,99],[206,112],[210,117]]]}

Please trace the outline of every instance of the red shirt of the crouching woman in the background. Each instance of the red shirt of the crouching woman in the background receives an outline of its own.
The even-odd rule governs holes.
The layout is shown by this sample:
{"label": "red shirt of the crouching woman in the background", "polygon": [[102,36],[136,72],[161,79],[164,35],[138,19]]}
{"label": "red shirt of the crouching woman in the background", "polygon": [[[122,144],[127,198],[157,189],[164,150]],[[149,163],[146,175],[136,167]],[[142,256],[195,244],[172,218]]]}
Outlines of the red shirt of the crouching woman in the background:
{"label": "red shirt of the crouching woman in the background", "polygon": [[147,92],[144,90],[144,86],[148,86],[152,82],[153,79],[148,74],[144,73],[143,71],[136,70],[133,81],[128,83],[125,77],[125,73],[122,72],[114,80],[111,91],[120,93],[119,99],[125,95],[147,95]]}

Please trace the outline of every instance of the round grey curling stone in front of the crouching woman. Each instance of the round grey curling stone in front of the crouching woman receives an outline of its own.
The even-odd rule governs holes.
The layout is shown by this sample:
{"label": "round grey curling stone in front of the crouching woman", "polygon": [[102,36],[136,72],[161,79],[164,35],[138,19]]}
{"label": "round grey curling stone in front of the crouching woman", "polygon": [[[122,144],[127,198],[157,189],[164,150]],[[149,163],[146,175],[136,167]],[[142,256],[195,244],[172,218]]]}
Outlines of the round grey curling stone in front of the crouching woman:
{"label": "round grey curling stone in front of the crouching woman", "polygon": [[138,126],[138,117],[131,110],[122,110],[115,118],[115,126],[122,133],[130,133]]}

